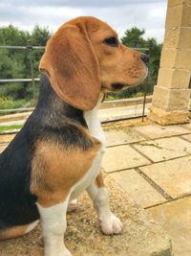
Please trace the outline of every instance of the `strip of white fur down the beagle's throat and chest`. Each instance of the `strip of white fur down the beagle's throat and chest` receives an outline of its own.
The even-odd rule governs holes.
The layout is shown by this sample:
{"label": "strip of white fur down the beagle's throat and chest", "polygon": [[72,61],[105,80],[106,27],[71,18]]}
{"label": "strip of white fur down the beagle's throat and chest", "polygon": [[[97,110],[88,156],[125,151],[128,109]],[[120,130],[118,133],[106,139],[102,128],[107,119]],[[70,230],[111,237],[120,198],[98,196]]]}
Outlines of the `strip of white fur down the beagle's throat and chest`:
{"label": "strip of white fur down the beagle's throat and chest", "polygon": [[100,95],[98,103],[94,109],[84,112],[84,118],[86,120],[89,130],[91,131],[92,135],[101,142],[102,147],[97,152],[91,169],[72,188],[71,198],[76,198],[83,190],[85,190],[94,181],[96,175],[98,175],[100,171],[100,163],[102,155],[105,151],[105,135],[101,128],[100,121],[98,120],[98,109],[102,98],[103,95]]}

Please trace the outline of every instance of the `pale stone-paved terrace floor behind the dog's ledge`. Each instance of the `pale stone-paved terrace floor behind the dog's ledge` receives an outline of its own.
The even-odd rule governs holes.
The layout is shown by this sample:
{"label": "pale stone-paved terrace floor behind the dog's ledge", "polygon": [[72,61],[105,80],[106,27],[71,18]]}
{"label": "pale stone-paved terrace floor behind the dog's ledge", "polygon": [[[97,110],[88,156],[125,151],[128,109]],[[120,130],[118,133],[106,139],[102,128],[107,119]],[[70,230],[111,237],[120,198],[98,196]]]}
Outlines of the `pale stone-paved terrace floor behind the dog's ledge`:
{"label": "pale stone-paved terrace floor behind the dog's ledge", "polygon": [[[0,137],[0,151],[11,138]],[[175,256],[190,256],[191,124],[123,127],[106,138],[104,171],[167,232]]]}

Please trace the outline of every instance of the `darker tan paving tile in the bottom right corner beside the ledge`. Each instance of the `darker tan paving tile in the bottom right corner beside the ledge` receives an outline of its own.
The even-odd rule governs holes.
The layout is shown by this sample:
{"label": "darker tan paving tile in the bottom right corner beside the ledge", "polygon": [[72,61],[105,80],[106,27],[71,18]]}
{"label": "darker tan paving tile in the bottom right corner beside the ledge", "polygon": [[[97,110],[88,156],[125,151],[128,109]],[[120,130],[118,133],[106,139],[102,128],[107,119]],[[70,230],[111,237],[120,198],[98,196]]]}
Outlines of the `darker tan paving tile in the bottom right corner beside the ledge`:
{"label": "darker tan paving tile in the bottom right corner beside the ledge", "polygon": [[171,237],[175,256],[191,255],[191,197],[152,207],[146,211]]}

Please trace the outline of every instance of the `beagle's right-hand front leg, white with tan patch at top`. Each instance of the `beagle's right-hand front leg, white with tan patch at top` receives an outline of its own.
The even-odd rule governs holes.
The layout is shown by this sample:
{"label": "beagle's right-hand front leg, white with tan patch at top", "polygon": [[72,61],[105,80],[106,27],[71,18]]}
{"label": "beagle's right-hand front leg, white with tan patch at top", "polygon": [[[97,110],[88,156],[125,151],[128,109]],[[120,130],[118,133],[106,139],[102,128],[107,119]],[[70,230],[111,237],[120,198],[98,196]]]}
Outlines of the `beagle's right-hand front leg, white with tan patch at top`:
{"label": "beagle's right-hand front leg, white with tan patch at top", "polygon": [[108,191],[104,186],[101,174],[97,175],[96,180],[89,186],[87,192],[93,200],[102,232],[106,235],[120,234],[122,223],[110,210]]}

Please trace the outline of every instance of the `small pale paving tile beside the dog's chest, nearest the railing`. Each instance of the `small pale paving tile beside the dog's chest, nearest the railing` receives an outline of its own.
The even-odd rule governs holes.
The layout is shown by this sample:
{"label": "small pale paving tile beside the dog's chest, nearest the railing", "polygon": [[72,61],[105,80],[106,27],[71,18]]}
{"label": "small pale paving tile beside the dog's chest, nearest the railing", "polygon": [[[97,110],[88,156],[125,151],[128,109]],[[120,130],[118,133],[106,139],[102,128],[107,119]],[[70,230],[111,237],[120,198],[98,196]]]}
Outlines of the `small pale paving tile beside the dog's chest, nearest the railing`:
{"label": "small pale paving tile beside the dog's chest, nearest the railing", "polygon": [[142,136],[132,130],[127,130],[127,132],[122,130],[111,130],[106,132],[106,147],[134,143],[143,140],[145,139]]}

